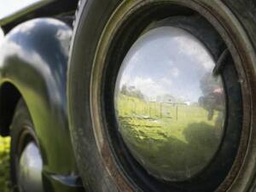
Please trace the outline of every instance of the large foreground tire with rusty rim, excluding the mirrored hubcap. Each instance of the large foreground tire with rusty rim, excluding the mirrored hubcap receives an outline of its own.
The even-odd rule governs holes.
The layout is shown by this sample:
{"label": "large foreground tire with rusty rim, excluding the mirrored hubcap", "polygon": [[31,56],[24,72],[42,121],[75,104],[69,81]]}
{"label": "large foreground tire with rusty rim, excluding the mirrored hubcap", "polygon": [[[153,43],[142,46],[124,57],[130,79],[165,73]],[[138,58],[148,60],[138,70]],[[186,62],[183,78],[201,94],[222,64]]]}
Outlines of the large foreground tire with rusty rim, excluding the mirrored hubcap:
{"label": "large foreground tire with rusty rim, excluding the mirrored hubcap", "polygon": [[[237,3],[229,0],[81,1],[70,51],[67,95],[73,148],[87,191],[253,191],[254,8],[253,1],[242,0]],[[222,144],[225,147],[219,149],[216,156],[219,158],[215,157],[214,166],[206,171],[208,175],[186,182],[159,181],[148,175],[130,152],[125,152],[127,148],[117,133],[119,125],[114,119],[114,84],[125,53],[145,30],[155,27],[149,25],[153,20],[175,17],[172,26],[184,28],[194,21],[177,17],[194,14],[218,33],[234,62],[232,67],[224,69],[223,75],[229,101],[227,127],[230,127],[226,128],[224,140],[231,144]],[[199,22],[193,25],[196,29],[201,27]],[[198,37],[203,40],[210,33],[202,32]],[[206,46],[214,47],[218,38],[212,42]],[[215,49],[221,50],[223,46],[218,44]],[[218,60],[221,53],[213,52]],[[236,131],[229,131],[232,127]]]}

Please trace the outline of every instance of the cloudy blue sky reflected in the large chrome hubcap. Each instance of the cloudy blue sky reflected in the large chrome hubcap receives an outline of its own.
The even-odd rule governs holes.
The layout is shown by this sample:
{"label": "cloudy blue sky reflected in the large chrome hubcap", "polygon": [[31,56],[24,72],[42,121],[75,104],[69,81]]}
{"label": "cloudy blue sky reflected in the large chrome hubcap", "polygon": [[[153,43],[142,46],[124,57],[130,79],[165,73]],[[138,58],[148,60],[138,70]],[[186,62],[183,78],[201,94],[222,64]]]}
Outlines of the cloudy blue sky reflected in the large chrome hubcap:
{"label": "cloudy blue sky reflected in the large chrome hubcap", "polygon": [[198,39],[182,29],[163,26],[140,38],[126,55],[119,89],[124,84],[134,86],[151,101],[172,93],[183,102],[198,102],[200,79],[212,73],[214,66],[212,55]]}

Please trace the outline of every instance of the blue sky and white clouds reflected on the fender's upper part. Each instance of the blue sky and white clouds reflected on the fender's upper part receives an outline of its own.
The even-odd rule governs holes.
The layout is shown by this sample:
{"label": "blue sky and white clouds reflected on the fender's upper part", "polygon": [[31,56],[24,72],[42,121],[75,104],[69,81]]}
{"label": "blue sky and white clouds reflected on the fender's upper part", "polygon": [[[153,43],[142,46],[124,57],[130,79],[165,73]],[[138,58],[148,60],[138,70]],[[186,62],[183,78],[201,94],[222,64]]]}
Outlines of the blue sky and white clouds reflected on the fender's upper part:
{"label": "blue sky and white clouds reflected on the fender's upper part", "polygon": [[[9,32],[2,44],[0,54],[0,70],[4,65],[17,65],[14,61],[29,63],[27,68],[20,70],[20,75],[31,77],[37,75],[38,87],[49,89],[50,101],[62,105],[66,100],[68,47],[72,30],[65,23],[54,19],[29,20]],[[21,67],[22,68],[22,67]],[[12,72],[10,72],[12,73]],[[29,75],[26,75],[29,73]],[[35,78],[36,79],[36,78]],[[53,91],[54,90],[54,91]]]}

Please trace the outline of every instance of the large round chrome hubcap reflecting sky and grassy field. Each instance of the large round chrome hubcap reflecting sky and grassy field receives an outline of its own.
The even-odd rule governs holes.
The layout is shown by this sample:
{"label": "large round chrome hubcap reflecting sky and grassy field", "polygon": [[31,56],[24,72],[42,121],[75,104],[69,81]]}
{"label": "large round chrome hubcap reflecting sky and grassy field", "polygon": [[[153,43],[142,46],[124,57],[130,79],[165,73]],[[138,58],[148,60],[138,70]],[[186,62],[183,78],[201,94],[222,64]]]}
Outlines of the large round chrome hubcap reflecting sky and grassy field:
{"label": "large round chrome hubcap reflecting sky and grassy field", "polygon": [[128,51],[115,88],[116,116],[131,154],[149,174],[183,181],[216,154],[225,98],[215,66],[197,38],[172,26],[146,32]]}

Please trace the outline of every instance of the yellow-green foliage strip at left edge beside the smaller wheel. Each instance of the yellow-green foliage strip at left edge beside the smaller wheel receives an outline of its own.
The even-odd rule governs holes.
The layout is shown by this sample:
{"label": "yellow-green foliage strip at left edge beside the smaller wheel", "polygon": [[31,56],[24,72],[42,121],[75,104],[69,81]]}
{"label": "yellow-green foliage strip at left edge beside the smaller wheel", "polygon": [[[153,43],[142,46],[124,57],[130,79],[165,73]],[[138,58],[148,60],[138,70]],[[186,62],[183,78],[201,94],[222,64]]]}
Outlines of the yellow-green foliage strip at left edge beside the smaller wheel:
{"label": "yellow-green foliage strip at left edge beside the smaller wheel", "polygon": [[0,191],[10,192],[9,182],[9,137],[0,137]]}

